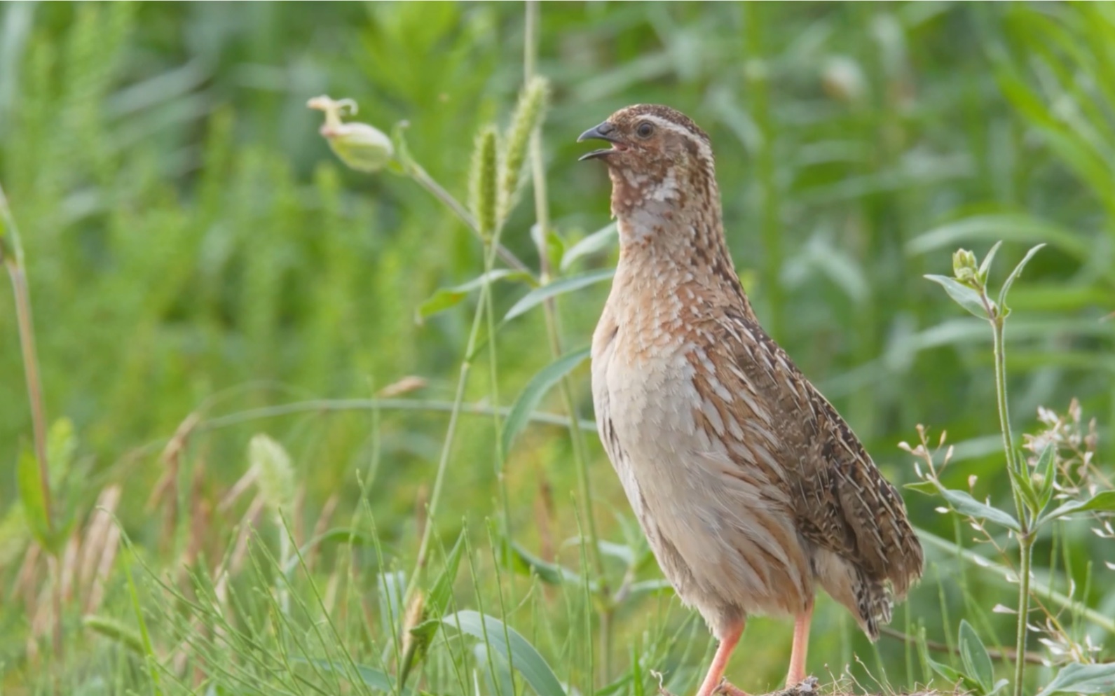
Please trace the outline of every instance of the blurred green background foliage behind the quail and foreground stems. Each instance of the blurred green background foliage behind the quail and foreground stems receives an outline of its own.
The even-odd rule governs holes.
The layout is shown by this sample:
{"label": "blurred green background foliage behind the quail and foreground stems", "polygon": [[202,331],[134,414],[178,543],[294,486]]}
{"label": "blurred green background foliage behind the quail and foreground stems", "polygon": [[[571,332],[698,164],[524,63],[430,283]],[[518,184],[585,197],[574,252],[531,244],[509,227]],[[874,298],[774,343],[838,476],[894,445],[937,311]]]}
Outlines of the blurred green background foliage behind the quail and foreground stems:
{"label": "blurred green background foliage behind the quail and foreground stems", "polygon": [[[1111,462],[1112,7],[546,3],[539,71],[553,88],[542,131],[551,245],[568,248],[609,222],[609,183],[601,167],[576,163],[579,133],[632,102],[686,111],[716,145],[729,244],[757,314],[888,476],[912,479],[895,444],[924,423],[957,444],[946,472],[954,488],[978,476],[973,494],[1005,500],[990,333],[922,275],[948,273],[958,246],[982,256],[1002,238],[998,265],[1010,268],[1047,242],[1011,295],[1016,427],[1032,429],[1037,406],[1063,411],[1076,396],[1098,420],[1101,460]],[[345,170],[306,101],[356,98],[359,120],[384,131],[406,120],[414,157],[465,200],[474,136],[492,120],[505,126],[522,86],[523,38],[517,3],[0,7],[0,183],[22,231],[48,413],[72,420],[79,440],[72,471],[84,477],[84,497],[72,504],[87,512],[103,489],[120,484],[126,533],[169,567],[201,504],[216,518],[206,540],[214,552],[236,521],[219,503],[248,468],[251,435],[268,430],[292,453],[306,519],[334,493],[353,509],[361,470],[377,532],[390,555],[407,557],[444,415],[320,411],[221,429],[205,419],[367,398],[407,375],[427,381],[421,399],[452,396],[475,295],[425,322],[416,316],[437,288],[482,273],[483,248],[405,177]],[[536,267],[533,199],[522,198],[503,242]],[[614,255],[572,271],[610,267]],[[495,293],[502,316],[524,286],[502,283]],[[566,349],[588,342],[605,293],[595,284],[561,300]],[[12,307],[3,285],[7,522],[31,432]],[[544,335],[541,312],[498,334],[504,405],[552,361]],[[475,370],[468,400],[485,401],[486,361]],[[586,371],[574,376],[580,415],[590,416]],[[560,411],[556,394],[543,408]],[[171,470],[177,500],[145,507],[168,471],[159,452],[194,412],[202,424]],[[462,516],[483,529],[497,513],[492,421],[466,418],[437,520],[446,538]],[[598,517],[604,537],[620,540],[615,519],[629,511],[590,441]],[[525,548],[578,533],[570,455],[568,433],[542,425],[510,453],[515,540]],[[915,525],[967,541],[932,501],[906,498]],[[4,605],[29,540],[7,522]],[[1068,558],[1066,549],[1077,559],[1111,557],[1111,541],[1080,527],[1039,540],[1037,562]],[[1010,644],[1011,620],[990,614],[1001,581],[948,555],[932,560],[896,626],[923,623],[944,640],[956,633],[950,610],[954,620],[981,611],[969,620],[998,643],[985,640]],[[1065,562],[1055,567],[1044,581],[1064,590]],[[1089,581],[1109,571],[1082,560],[1067,572],[1090,606],[1115,607],[1111,582]],[[620,615],[622,635],[648,629],[649,614]],[[847,640],[851,623],[836,607],[822,605],[816,621],[818,674],[823,664],[838,673],[853,646],[870,654],[862,637]],[[0,633],[11,636],[0,639],[0,664],[13,674],[26,675],[19,636],[32,623],[0,611]],[[740,686],[778,678],[784,624],[753,621],[752,672]],[[767,634],[776,638],[764,641]],[[895,683],[923,678],[901,643],[879,650],[872,667]]]}

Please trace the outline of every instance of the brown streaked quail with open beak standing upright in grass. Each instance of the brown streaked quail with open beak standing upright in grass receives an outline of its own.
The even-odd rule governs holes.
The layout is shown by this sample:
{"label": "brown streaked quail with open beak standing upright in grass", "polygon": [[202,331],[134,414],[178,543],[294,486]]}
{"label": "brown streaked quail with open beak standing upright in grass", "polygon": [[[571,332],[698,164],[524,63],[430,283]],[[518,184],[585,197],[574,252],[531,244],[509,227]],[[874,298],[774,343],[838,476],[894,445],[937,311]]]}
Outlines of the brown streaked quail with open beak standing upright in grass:
{"label": "brown streaked quail with open beak standing upright in grass", "polygon": [[678,597],[719,641],[752,614],[793,616],[787,688],[805,677],[817,587],[874,640],[922,572],[894,487],[759,325],[728,253],[708,135],[636,105],[585,130],[609,144],[620,261],[592,337],[601,442]]}

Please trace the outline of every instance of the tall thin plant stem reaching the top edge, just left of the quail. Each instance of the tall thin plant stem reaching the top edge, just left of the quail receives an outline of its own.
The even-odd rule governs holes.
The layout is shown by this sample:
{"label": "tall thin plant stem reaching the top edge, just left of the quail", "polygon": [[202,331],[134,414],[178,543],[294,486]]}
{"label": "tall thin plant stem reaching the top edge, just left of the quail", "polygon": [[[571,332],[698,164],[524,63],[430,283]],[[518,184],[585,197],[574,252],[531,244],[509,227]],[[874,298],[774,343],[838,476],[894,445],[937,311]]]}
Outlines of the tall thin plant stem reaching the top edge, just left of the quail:
{"label": "tall thin plant stem reaching the top edge, just left of the quail", "polygon": [[[523,71],[527,82],[534,77],[537,69],[537,37],[539,37],[539,2],[529,0],[526,3],[526,27],[523,48]],[[531,134],[531,175],[534,184],[534,213],[535,224],[539,228],[539,275],[540,283],[545,285],[550,282],[550,254],[546,249],[546,234],[550,229],[550,204],[546,197],[546,174],[545,163],[542,159],[542,137],[535,129]],[[553,356],[562,355],[561,326],[559,324],[556,302],[553,297],[542,304],[543,314],[546,322],[546,335],[550,341],[550,352]],[[592,511],[592,486],[589,478],[589,457],[585,452],[584,435],[578,427],[576,400],[573,398],[573,385],[570,378],[563,376],[560,382],[562,401],[565,404],[565,412],[569,414],[569,434],[573,447],[573,461],[576,464],[578,482],[580,487],[581,504],[584,506],[585,526],[589,532],[590,557],[595,567],[597,581],[604,597],[608,597],[608,581],[604,576],[604,561],[600,551],[600,537],[597,532],[595,514]],[[600,614],[600,644],[601,660],[600,670],[602,678],[607,680],[610,673],[609,653],[611,651],[611,602],[609,608]],[[590,647],[591,649],[591,647]]]}

